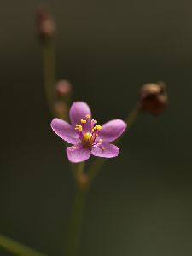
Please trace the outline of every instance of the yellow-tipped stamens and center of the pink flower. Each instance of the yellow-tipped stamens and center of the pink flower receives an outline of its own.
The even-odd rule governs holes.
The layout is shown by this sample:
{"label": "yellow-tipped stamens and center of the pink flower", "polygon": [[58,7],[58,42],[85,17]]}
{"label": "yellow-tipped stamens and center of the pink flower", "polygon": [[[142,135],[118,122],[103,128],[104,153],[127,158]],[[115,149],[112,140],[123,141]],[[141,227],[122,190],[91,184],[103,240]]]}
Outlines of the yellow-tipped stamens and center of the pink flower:
{"label": "yellow-tipped stamens and center of the pink flower", "polygon": [[[102,130],[102,126],[96,125],[96,120],[90,120],[89,114],[85,116],[85,119],[81,119],[80,122],[81,125],[77,124],[75,130],[79,133],[79,139],[82,146],[90,148],[94,145],[96,137],[98,137],[99,132]],[[100,139],[98,143],[102,143],[102,139]]]}

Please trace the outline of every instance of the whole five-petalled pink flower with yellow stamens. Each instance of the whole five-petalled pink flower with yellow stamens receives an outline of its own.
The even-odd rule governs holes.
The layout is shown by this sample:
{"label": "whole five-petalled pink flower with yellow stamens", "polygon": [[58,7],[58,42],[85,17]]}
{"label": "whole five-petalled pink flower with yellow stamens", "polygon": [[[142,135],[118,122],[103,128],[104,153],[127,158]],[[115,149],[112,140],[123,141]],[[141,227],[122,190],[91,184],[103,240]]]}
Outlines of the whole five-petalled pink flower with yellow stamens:
{"label": "whole five-petalled pink flower with yellow stamens", "polygon": [[79,163],[90,158],[90,154],[112,158],[118,156],[119,148],[110,144],[126,129],[121,119],[113,119],[104,125],[96,125],[91,119],[89,106],[85,102],[74,102],[69,111],[71,124],[62,119],[53,119],[51,128],[67,143],[67,157],[72,163]]}

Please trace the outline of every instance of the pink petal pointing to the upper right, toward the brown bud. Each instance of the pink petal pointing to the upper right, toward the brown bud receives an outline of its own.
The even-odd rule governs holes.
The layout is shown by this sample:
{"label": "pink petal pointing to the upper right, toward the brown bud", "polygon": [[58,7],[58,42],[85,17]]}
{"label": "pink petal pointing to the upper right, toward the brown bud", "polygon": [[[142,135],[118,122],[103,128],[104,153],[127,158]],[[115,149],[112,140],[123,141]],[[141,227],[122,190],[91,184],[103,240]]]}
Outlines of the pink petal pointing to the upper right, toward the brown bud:
{"label": "pink petal pointing to the upper right, toward the brown bud", "polygon": [[126,124],[121,119],[114,119],[102,125],[102,130],[99,133],[97,141],[102,139],[105,143],[110,143],[116,140],[125,131]]}

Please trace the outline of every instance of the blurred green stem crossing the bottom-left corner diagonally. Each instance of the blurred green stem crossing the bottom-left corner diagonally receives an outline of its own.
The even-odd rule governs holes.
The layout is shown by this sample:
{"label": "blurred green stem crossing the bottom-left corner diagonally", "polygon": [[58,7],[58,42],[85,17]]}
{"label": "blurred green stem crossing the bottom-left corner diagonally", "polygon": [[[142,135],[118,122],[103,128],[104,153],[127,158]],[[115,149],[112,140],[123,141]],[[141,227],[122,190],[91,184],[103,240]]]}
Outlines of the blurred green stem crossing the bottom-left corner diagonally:
{"label": "blurred green stem crossing the bottom-left corner diagonally", "polygon": [[20,244],[18,241],[14,241],[6,236],[0,235],[0,247],[3,247],[10,253],[14,253],[19,256],[45,256],[44,253],[38,253],[38,251]]}

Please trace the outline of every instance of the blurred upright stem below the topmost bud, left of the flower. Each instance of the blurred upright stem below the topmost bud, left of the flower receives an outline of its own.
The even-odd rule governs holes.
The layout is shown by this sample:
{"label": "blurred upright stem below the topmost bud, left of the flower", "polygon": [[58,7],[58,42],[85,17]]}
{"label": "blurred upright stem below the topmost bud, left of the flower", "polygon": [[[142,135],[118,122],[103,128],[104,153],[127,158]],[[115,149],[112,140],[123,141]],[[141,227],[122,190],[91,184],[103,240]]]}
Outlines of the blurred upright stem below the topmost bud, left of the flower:
{"label": "blurred upright stem below the topmost bud, left of the flower", "polygon": [[43,45],[44,87],[49,108],[52,113],[55,104],[55,44],[53,40],[46,41]]}

